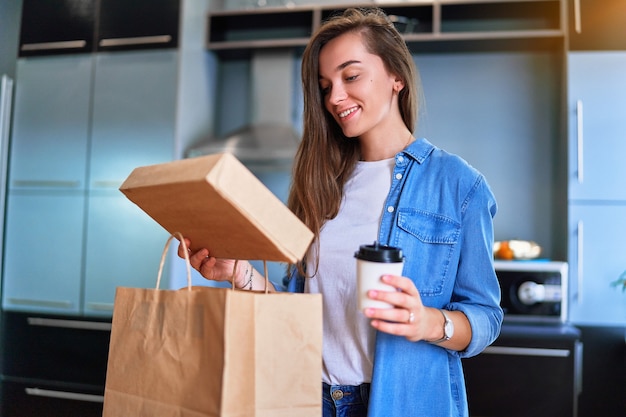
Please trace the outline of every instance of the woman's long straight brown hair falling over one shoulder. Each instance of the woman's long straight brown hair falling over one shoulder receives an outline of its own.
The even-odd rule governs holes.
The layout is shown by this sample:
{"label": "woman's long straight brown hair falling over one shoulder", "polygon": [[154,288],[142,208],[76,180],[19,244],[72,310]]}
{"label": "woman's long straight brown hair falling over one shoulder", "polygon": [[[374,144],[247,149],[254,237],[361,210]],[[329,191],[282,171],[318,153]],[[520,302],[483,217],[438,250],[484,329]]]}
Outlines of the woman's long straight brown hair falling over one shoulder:
{"label": "woman's long straight brown hair falling over one shoulder", "polygon": [[380,8],[350,8],[330,17],[309,41],[302,58],[304,126],[296,153],[287,205],[319,237],[334,218],[343,187],[360,157],[359,142],[348,139],[324,107],[319,85],[320,50],[347,32],[362,35],[368,52],[378,55],[386,70],[404,81],[398,100],[406,127],[413,132],[417,117],[417,70],[406,43]]}

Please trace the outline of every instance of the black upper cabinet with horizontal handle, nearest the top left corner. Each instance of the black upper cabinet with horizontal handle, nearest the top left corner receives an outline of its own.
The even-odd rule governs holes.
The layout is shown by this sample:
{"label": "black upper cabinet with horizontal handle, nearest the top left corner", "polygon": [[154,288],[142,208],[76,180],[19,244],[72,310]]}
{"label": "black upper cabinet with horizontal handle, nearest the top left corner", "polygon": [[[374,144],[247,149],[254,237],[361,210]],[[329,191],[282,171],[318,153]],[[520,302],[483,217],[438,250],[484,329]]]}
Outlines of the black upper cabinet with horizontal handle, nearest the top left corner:
{"label": "black upper cabinet with horizontal handle, nearest the top left corner", "polygon": [[23,0],[20,56],[91,52],[96,0]]}

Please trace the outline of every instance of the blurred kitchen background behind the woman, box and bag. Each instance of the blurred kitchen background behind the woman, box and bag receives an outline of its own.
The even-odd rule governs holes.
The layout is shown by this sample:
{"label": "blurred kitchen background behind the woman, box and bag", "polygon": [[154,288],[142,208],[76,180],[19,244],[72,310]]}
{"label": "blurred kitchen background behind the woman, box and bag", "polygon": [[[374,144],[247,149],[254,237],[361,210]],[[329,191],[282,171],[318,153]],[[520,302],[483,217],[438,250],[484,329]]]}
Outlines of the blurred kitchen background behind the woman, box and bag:
{"label": "blurred kitchen background behind the woman, box and bag", "polygon": [[468,361],[473,416],[626,415],[623,0],[0,0],[0,417],[100,415],[115,288],[153,287],[167,239],[133,168],[228,150],[286,199],[303,47],[353,4],[403,32],[417,136],[485,174],[495,239],[541,246],[500,264],[503,302],[562,291]]}

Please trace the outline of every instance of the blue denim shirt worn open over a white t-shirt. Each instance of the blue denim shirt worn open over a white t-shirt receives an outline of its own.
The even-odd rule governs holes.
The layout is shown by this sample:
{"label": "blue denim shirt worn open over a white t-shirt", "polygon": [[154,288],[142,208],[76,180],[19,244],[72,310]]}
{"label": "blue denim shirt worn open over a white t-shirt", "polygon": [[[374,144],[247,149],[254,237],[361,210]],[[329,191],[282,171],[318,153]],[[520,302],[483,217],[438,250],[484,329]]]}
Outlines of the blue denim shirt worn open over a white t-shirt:
{"label": "blue denim shirt worn open over a white t-shirt", "polygon": [[[379,332],[368,417],[469,415],[461,358],[491,344],[503,317],[492,255],[496,209],[485,178],[426,139],[396,155],[378,240],[402,248],[403,275],[424,305],[465,313],[472,339],[456,352]],[[292,276],[288,290],[302,292],[304,279]]]}

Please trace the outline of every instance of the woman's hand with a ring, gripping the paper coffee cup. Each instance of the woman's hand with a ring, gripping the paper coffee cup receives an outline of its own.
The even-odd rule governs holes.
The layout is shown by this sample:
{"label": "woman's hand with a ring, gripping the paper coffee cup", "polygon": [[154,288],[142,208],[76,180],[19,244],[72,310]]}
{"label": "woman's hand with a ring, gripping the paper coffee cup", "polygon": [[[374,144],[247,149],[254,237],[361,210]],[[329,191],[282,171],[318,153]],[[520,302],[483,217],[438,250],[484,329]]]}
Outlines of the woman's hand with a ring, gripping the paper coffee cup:
{"label": "woman's hand with a ring, gripping the paper coffee cup", "polygon": [[422,304],[419,291],[409,278],[384,275],[381,279],[385,284],[397,288],[398,291],[370,290],[368,292],[367,295],[370,298],[393,305],[393,308],[365,309],[365,316],[372,319],[371,325],[381,332],[404,336],[412,342],[423,339],[433,340],[431,334],[433,317],[431,315],[433,311],[439,316],[441,313]]}

